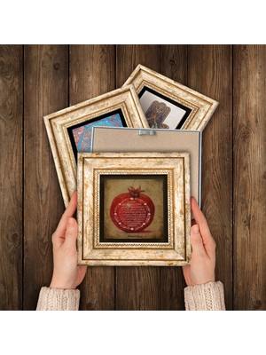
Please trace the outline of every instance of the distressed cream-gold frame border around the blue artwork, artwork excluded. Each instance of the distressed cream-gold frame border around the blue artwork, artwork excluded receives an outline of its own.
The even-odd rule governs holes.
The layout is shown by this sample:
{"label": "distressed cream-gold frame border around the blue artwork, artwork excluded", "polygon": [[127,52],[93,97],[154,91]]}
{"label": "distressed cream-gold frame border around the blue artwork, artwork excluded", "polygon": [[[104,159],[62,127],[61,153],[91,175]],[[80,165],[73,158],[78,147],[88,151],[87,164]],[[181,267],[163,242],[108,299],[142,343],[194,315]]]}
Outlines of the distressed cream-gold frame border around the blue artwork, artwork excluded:
{"label": "distressed cream-gold frame border around the blue artwork, artwork excluded", "polygon": [[66,206],[76,190],[76,162],[67,129],[119,109],[128,127],[149,127],[133,85],[43,117]]}

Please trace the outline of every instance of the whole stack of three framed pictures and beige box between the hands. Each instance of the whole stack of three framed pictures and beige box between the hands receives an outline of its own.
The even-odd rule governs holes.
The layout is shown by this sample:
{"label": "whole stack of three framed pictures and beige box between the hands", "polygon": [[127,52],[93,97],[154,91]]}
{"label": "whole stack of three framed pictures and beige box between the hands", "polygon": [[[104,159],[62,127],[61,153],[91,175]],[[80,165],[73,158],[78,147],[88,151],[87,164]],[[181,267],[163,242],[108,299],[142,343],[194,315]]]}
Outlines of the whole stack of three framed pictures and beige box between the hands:
{"label": "whole stack of three framed pictures and beige box between the hands", "polygon": [[137,66],[121,89],[44,117],[63,199],[78,190],[78,261],[190,262],[201,131],[217,102]]}

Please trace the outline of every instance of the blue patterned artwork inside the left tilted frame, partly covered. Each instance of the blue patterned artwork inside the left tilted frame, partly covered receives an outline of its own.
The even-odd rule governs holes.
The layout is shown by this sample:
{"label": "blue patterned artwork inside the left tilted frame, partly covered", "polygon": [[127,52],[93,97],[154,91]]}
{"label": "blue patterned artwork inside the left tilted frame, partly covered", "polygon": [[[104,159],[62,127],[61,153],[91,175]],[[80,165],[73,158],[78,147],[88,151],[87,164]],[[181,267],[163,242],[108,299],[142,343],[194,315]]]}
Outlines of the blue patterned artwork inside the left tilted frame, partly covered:
{"label": "blue patterned artwork inside the left tilted frame, partly covered", "polygon": [[91,131],[93,126],[123,127],[120,114],[113,114],[96,122],[88,123],[84,126],[74,128],[72,133],[78,152],[90,152]]}

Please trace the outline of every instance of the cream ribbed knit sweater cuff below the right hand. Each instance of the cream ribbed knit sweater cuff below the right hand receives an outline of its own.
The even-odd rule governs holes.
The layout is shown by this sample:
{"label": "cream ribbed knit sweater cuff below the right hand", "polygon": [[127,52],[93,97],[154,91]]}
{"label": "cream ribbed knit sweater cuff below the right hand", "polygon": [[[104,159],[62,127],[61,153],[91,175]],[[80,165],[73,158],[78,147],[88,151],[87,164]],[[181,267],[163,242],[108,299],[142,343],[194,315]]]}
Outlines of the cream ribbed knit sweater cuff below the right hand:
{"label": "cream ribbed knit sweater cuff below the right hand", "polygon": [[208,282],[184,288],[186,311],[225,311],[223,283]]}

